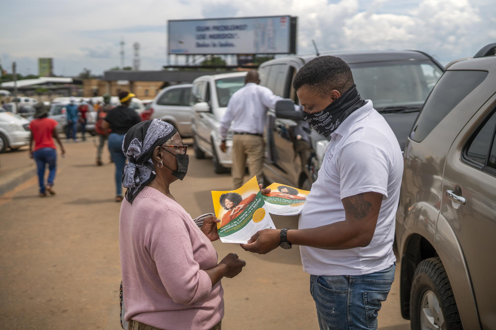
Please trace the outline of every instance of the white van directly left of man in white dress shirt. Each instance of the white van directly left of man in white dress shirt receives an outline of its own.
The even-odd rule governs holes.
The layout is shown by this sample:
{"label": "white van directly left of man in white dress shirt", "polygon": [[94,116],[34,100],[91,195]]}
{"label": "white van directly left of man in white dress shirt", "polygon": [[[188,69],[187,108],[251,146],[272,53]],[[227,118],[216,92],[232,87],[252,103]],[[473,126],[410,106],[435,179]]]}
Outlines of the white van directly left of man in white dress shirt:
{"label": "white van directly left of man in white dress shirt", "polygon": [[227,109],[227,103],[236,91],[245,85],[247,72],[223,73],[202,76],[193,81],[191,104],[194,116],[191,131],[194,138],[196,158],[212,156],[215,173],[226,173],[232,166],[232,132],[228,132],[224,153],[220,150],[220,121]]}

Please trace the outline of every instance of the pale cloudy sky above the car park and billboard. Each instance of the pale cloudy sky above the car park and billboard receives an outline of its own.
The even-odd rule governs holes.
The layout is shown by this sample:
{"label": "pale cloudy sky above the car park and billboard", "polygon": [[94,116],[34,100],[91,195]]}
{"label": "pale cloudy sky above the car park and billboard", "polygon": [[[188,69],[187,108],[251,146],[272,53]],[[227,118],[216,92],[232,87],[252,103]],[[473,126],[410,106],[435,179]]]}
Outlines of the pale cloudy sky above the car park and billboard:
{"label": "pale cloudy sky above the car park and billboard", "polygon": [[168,19],[298,16],[298,53],[418,49],[441,63],[473,56],[496,42],[495,0],[0,0],[0,63],[38,74],[37,58],[53,57],[57,75],[95,74],[132,65],[167,64]]}

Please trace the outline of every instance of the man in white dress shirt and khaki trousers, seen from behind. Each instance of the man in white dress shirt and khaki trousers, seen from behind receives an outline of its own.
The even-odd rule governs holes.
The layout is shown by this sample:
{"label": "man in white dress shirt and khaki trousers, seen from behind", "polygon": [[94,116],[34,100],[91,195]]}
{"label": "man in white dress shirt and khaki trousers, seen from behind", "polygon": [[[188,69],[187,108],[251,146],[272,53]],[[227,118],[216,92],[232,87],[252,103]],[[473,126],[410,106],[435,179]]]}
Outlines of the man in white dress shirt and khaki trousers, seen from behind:
{"label": "man in white dress shirt and khaki trousers, seen from behind", "polygon": [[260,80],[255,70],[248,72],[245,86],[231,96],[227,111],[220,122],[222,143],[220,148],[226,152],[227,130],[233,130],[233,175],[234,188],[243,186],[245,164],[248,157],[250,177],[256,175],[258,183],[262,183],[262,165],[265,151],[263,130],[269,108],[282,97],[274,95],[266,87],[259,86]]}

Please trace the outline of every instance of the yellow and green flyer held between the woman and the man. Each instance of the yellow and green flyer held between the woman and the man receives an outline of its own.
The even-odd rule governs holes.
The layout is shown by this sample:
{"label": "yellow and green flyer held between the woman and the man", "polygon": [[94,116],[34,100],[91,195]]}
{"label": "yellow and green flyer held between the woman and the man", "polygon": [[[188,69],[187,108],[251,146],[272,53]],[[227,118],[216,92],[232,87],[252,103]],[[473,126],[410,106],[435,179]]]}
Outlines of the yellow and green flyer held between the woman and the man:
{"label": "yellow and green flyer held between the woman and the man", "polygon": [[256,232],[266,228],[275,229],[267,212],[256,177],[240,189],[212,191],[217,232],[224,243],[248,243]]}

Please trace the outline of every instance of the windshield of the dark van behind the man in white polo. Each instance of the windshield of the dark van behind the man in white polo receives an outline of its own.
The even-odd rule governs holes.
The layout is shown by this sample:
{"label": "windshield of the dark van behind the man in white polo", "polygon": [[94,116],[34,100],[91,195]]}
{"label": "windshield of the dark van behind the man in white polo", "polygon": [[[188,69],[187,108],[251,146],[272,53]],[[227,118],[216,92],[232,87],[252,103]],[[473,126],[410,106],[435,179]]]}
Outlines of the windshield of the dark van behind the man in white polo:
{"label": "windshield of the dark van behind the man in white polo", "polygon": [[442,70],[432,61],[387,61],[351,64],[353,79],[363,99],[374,108],[422,107]]}

